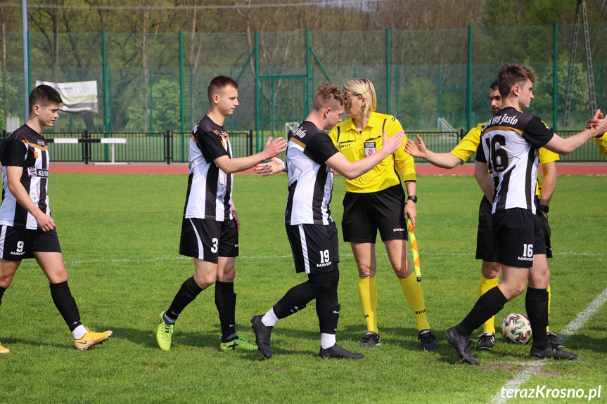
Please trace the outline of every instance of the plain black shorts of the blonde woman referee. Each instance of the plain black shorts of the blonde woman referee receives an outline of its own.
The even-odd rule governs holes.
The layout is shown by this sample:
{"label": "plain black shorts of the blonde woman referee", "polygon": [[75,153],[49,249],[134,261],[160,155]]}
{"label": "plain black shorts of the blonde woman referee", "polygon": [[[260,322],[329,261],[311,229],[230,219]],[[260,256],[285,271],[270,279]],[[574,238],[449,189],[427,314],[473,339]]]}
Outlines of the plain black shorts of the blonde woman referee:
{"label": "plain black shorts of the blonde woman referee", "polygon": [[401,185],[376,193],[345,193],[341,228],[345,242],[375,243],[409,240],[404,219],[404,190]]}

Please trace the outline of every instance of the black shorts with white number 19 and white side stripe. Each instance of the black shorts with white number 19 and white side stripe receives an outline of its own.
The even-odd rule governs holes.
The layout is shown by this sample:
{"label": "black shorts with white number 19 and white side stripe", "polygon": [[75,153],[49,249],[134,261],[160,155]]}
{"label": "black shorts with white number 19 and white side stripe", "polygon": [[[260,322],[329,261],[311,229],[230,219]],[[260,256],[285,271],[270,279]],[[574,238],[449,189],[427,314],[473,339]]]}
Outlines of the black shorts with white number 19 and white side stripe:
{"label": "black shorts with white number 19 and white side stripe", "polygon": [[335,223],[286,225],[287,237],[298,273],[326,273],[339,262],[339,240]]}

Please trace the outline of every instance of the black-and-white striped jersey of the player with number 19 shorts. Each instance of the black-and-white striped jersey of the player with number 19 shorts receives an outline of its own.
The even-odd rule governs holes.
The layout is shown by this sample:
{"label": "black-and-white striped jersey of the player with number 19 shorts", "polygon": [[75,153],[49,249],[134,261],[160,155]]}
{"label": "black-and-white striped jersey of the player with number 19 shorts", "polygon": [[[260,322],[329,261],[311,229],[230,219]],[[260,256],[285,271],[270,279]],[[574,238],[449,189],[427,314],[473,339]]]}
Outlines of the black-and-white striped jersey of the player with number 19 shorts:
{"label": "black-and-white striped jersey of the player with number 19 shorts", "polygon": [[304,121],[288,141],[288,197],[285,223],[333,223],[331,202],[333,169],[326,160],[339,151],[324,131],[312,122]]}

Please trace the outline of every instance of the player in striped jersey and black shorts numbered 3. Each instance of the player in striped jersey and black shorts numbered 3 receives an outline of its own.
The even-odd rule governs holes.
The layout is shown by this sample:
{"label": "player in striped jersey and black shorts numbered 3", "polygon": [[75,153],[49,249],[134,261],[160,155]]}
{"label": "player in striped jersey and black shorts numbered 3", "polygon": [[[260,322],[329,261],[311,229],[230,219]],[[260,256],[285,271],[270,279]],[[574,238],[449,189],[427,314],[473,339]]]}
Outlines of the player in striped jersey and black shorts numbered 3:
{"label": "player in striped jersey and black shorts numbered 3", "polygon": [[269,138],[264,151],[232,158],[223,124],[238,106],[238,83],[217,76],[211,80],[207,96],[209,110],[194,126],[190,139],[188,191],[179,244],[179,254],[193,258],[195,273],[181,285],[167,311],[160,313],[156,341],[163,351],[169,351],[181,311],[215,283],[215,305],[222,327],[220,351],[255,351],[257,346],[236,334],[234,278],[240,225],[232,203],[232,186],[235,172],[283,152],[286,141]]}

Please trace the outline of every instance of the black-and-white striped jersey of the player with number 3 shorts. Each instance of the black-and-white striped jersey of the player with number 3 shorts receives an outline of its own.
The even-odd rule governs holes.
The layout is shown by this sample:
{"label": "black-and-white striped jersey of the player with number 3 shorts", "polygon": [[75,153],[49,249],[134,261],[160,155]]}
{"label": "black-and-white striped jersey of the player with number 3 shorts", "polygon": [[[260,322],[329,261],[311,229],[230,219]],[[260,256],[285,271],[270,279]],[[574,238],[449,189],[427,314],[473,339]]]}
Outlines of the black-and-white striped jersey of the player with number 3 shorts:
{"label": "black-and-white striped jersey of the player with number 3 shorts", "polygon": [[213,159],[232,158],[228,133],[205,115],[194,126],[190,138],[189,178],[184,218],[229,221],[233,218],[234,174],[219,169]]}

